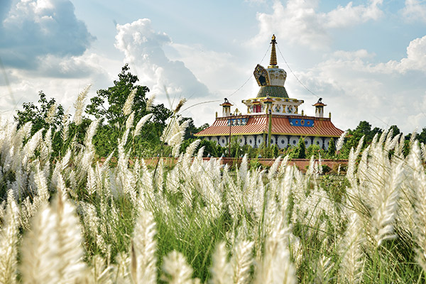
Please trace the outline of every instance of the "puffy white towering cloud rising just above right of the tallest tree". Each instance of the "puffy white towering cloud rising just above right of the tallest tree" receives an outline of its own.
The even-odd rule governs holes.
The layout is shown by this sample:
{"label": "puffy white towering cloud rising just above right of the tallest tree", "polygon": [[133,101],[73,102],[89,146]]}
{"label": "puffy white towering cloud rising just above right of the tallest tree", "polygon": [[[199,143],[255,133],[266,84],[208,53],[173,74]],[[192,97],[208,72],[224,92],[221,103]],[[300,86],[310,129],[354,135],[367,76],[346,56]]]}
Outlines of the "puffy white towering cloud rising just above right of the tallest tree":
{"label": "puffy white towering cloud rising just above right of the tallest tree", "polygon": [[139,19],[133,23],[117,25],[116,48],[126,56],[126,62],[136,67],[142,84],[155,94],[170,97],[205,97],[209,90],[180,60],[170,60],[164,46],[172,40],[165,33],[154,31],[151,20]]}

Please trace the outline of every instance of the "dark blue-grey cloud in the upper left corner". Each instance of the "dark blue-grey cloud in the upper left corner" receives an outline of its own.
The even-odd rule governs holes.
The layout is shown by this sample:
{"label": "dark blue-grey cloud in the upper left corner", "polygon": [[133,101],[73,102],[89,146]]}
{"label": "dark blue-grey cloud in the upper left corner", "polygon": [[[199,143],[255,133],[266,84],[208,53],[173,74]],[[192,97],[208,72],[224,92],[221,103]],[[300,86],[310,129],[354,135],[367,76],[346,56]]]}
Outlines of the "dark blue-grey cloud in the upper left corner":
{"label": "dark blue-grey cloud in the upper left corner", "polygon": [[4,7],[0,54],[6,66],[35,70],[45,56],[82,55],[94,40],[70,0],[9,0]]}

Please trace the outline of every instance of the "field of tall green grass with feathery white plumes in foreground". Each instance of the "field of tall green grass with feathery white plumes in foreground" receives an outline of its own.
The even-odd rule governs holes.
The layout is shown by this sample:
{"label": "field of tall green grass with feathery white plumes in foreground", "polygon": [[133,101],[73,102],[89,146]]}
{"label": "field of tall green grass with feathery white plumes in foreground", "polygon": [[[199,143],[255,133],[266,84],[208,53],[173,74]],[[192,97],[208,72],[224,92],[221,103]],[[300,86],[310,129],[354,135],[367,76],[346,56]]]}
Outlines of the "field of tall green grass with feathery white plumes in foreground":
{"label": "field of tall green grass with feathery white plumes in foreground", "polygon": [[405,157],[392,133],[362,153],[361,140],[346,177],[321,178],[314,160],[302,175],[288,158],[229,170],[194,153],[198,141],[178,153],[185,124],[173,116],[163,141],[178,163],[148,168],[129,163],[127,141],[151,116],[132,129],[128,109],[104,163],[97,121],[56,160],[50,131],[0,126],[0,283],[426,281],[424,145]]}

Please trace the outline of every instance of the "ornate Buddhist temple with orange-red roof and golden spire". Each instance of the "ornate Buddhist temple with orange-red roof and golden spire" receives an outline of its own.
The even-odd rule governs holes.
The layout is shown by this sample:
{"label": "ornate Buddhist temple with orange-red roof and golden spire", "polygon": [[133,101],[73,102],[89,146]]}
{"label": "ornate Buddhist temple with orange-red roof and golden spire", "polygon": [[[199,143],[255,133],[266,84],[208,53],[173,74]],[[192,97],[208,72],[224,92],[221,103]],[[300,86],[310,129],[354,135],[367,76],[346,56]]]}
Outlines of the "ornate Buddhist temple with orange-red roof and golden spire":
{"label": "ornate Buddhist temple with orange-red roof and golden spire", "polygon": [[[222,106],[222,117],[207,129],[196,133],[195,136],[226,146],[231,136],[236,136],[240,146],[249,145],[261,147],[276,144],[278,148],[296,146],[301,137],[305,145],[316,144],[327,149],[330,138],[336,141],[343,131],[332,124],[331,113],[324,117],[322,98],[313,104],[315,116],[299,114],[301,99],[290,99],[284,87],[287,73],[278,68],[275,51],[275,35],[271,41],[271,60],[268,68],[257,65],[253,75],[260,87],[253,99],[244,99],[247,114],[239,114],[238,109],[232,114],[233,106],[225,99]],[[266,143],[265,143],[266,142]]]}

